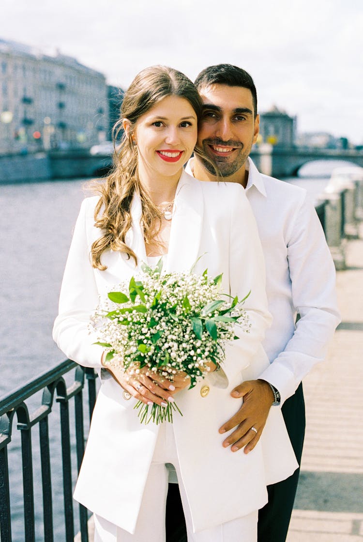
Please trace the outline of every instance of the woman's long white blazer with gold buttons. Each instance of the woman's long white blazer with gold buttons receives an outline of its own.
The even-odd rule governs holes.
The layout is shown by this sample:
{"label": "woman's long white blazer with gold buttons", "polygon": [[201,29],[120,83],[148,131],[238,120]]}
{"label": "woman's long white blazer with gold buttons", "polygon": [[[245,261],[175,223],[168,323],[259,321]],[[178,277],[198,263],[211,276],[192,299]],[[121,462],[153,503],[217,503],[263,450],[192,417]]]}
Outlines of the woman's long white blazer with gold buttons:
{"label": "woman's long white blazer with gold buttons", "polygon": [[[146,261],[146,253],[140,228],[141,202],[134,196],[126,242],[138,256],[138,268],[132,259],[111,250],[102,255],[105,271],[92,268],[90,246],[100,236],[94,227],[97,201],[93,197],[82,203],[53,335],[70,359],[100,370],[102,348],[93,344],[98,337],[89,333],[89,315],[99,295],[131,278]],[[251,290],[244,308],[252,327],[227,347],[223,371],[211,373],[192,390],[176,396],[183,417],[174,415],[173,430],[195,531],[261,508],[267,502],[266,486],[287,478],[297,468],[278,407],[270,409],[260,442],[248,455],[222,447],[225,435],[219,435],[218,428],[238,408],[238,401],[230,397],[231,390],[243,379],[257,378],[268,366],[261,347],[271,320],[264,260],[255,219],[241,186],[202,183],[183,172],[174,201],[165,270],[188,271],[204,253],[196,273],[205,268],[211,277],[223,273],[222,291],[241,299]],[[133,410],[135,399],[126,400],[113,378],[101,382],[74,498],[133,533],[159,425],[141,425]],[[200,395],[204,385],[210,386],[206,397]]]}

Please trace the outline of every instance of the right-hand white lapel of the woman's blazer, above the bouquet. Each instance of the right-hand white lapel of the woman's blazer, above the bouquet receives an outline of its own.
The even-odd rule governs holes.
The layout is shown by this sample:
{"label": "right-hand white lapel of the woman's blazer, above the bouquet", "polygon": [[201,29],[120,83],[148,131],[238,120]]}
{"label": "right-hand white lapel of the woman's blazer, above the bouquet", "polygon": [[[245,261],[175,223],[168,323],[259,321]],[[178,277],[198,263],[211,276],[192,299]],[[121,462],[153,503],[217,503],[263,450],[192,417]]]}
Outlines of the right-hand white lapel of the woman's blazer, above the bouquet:
{"label": "right-hand white lapel of the woman's blazer, above the bouquet", "polygon": [[189,271],[200,256],[203,207],[200,181],[183,171],[174,201],[166,271]]}

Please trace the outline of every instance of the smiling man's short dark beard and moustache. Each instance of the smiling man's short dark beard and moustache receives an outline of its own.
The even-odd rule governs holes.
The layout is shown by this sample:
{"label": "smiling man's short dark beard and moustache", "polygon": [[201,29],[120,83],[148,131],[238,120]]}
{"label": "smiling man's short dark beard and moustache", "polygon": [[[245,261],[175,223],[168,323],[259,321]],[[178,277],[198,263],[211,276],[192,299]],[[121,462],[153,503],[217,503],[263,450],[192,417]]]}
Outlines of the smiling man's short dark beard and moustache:
{"label": "smiling man's short dark beard and moustache", "polygon": [[[211,157],[209,145],[225,145],[235,147],[236,149],[238,149],[238,153],[233,162],[228,162],[228,158],[224,158],[223,156]],[[206,160],[203,156],[198,157],[199,160],[202,162],[203,167],[213,176],[217,176],[216,171],[218,171],[221,177],[230,177],[231,175],[234,175],[234,173],[236,173],[239,169],[241,169],[241,167],[249,157],[252,148],[252,142],[251,145],[245,147],[243,143],[241,143],[241,141],[204,139],[202,142],[202,146],[204,153],[209,158],[209,160]]]}

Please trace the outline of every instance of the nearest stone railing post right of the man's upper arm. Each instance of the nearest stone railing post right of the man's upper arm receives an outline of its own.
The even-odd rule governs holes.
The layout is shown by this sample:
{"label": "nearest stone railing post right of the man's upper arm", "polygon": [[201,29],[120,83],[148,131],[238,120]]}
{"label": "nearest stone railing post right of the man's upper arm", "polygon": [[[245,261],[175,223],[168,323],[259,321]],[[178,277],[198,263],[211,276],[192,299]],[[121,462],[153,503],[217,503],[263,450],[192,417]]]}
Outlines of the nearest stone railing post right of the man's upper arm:
{"label": "nearest stone railing post right of the man's upper arm", "polygon": [[345,245],[343,235],[343,192],[324,193],[318,197],[321,203],[325,203],[324,224],[325,237],[332,254],[335,269],[346,268]]}

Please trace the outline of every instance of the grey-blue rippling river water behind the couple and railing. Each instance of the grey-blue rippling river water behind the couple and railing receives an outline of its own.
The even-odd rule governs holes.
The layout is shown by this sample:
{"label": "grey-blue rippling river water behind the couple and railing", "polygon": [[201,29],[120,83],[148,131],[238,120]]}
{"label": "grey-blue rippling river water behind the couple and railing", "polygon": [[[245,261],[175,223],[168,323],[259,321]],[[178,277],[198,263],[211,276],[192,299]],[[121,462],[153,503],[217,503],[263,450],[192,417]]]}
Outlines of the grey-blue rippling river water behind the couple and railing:
{"label": "grey-blue rippling river water behind the couple and railing", "polygon": [[[336,165],[339,165],[338,163]],[[330,167],[331,169],[331,167]],[[312,201],[328,183],[320,170],[306,178],[287,179],[306,188]],[[86,180],[31,182],[0,186],[1,332],[0,397],[59,364],[64,354],[51,338],[57,302],[72,229],[85,191]],[[39,403],[37,403],[38,405]],[[53,413],[52,413],[53,416]],[[55,413],[55,417],[58,415]],[[51,424],[50,424],[51,425]],[[59,427],[59,425],[57,425]],[[50,432],[53,429],[50,429]],[[35,433],[37,429],[34,429]],[[33,433],[34,433],[33,431]],[[56,431],[56,430],[53,430]],[[13,540],[24,540],[20,439],[15,429],[9,447]],[[58,429],[59,433],[59,429]],[[34,457],[38,440],[33,436]],[[74,441],[74,436],[72,437]],[[62,480],[59,435],[51,434],[54,447],[53,493],[55,540],[64,539],[61,501]],[[40,479],[34,459],[35,479]],[[75,477],[75,465],[73,466]],[[40,486],[40,485],[39,485]],[[36,518],[41,524],[41,492],[35,491]],[[75,507],[77,509],[77,507]],[[37,527],[37,541],[43,540]]]}

